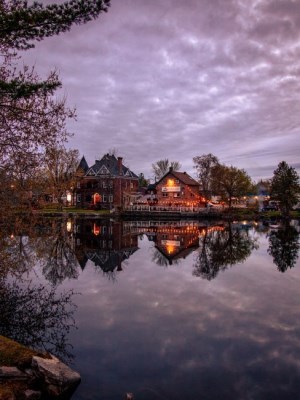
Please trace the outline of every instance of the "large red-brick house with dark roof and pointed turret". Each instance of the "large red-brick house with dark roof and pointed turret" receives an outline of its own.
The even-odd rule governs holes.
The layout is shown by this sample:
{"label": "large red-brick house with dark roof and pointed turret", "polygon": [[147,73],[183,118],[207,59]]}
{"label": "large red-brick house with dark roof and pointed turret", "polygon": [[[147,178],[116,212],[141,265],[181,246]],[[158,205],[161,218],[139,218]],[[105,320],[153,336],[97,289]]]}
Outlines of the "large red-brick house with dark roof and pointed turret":
{"label": "large red-brick house with dark roof and pointed turret", "polygon": [[123,165],[122,157],[105,154],[91,167],[83,157],[76,176],[77,207],[112,209],[130,204],[137,196],[138,176]]}

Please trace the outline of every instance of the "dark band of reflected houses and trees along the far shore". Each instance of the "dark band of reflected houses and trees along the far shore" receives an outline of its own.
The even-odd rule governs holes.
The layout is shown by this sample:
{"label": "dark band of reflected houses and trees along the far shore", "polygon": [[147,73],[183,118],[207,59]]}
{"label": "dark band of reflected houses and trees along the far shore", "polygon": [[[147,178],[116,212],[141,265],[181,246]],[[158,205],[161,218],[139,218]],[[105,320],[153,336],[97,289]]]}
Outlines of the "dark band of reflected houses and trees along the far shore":
{"label": "dark band of reflected houses and trees along the far shore", "polygon": [[244,262],[259,247],[254,232],[265,232],[268,253],[279,271],[292,268],[299,252],[299,233],[263,223],[205,221],[116,221],[89,218],[37,218],[12,221],[0,234],[1,275],[21,276],[37,263],[53,285],[77,279],[91,262],[115,280],[129,258],[139,250],[138,241],[153,243],[152,261],[167,267],[192,253],[193,275],[212,280],[228,266]]}

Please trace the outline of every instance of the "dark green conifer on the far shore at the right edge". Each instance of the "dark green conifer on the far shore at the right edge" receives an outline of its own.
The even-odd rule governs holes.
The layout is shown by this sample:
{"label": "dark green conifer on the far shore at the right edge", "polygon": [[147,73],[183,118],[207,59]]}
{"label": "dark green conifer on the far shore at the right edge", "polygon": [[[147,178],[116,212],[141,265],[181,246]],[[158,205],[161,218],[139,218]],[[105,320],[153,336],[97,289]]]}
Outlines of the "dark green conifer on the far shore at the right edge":
{"label": "dark green conifer on the far shore at the right edge", "polygon": [[284,217],[289,217],[293,206],[299,201],[300,182],[295,168],[285,161],[278,164],[271,180],[271,197],[280,201],[280,210]]}

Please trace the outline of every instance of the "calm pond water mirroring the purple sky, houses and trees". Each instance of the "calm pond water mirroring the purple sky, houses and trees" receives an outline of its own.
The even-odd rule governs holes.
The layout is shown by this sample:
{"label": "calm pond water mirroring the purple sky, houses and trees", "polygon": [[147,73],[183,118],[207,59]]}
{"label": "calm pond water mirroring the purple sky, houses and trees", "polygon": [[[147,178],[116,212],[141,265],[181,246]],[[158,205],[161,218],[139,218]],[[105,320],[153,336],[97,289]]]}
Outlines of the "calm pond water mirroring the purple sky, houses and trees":
{"label": "calm pond water mirroring the purple sky, houses and trees", "polygon": [[79,371],[72,400],[298,399],[300,229],[273,225],[16,221],[0,333]]}

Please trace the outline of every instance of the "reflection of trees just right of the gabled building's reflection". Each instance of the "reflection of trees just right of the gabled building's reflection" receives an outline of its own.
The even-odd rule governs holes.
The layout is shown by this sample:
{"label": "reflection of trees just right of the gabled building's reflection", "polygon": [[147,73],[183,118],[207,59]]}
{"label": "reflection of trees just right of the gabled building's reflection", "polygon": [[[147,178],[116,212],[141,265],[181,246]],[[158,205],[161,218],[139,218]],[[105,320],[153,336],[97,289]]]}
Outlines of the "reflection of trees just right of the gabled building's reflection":
{"label": "reflection of trees just right of the gabled building's reflection", "polygon": [[199,244],[193,274],[207,280],[216,278],[228,266],[244,262],[257,248],[256,240],[247,230],[233,227],[231,223],[224,230],[207,228]]}

